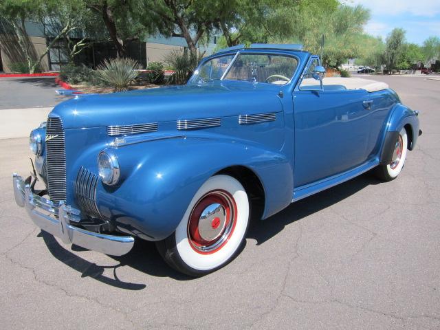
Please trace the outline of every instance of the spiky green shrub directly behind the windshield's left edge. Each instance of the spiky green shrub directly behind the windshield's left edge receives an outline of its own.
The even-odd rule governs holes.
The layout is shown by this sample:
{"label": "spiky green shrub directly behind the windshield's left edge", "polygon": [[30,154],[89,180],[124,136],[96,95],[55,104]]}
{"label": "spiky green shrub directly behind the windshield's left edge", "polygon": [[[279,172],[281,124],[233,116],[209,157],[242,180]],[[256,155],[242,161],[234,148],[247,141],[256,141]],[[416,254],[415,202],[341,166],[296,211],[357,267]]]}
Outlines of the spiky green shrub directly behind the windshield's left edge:
{"label": "spiky green shrub directly behind the windshield's left edge", "polygon": [[165,56],[165,62],[174,70],[168,83],[184,85],[197,67],[199,56],[194,52],[173,51]]}

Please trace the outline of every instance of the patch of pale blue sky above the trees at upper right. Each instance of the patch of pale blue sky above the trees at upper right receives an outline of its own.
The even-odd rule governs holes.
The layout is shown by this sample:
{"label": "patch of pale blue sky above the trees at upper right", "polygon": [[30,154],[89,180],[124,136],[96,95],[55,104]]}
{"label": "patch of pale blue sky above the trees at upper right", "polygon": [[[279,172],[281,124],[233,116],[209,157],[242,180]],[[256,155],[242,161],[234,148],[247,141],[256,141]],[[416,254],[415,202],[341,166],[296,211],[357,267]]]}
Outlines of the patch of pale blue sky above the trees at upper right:
{"label": "patch of pale blue sky above the trees at upper right", "polygon": [[429,36],[440,37],[440,0],[347,0],[348,5],[369,8],[371,19],[365,32],[386,35],[393,28],[404,28],[406,39],[421,45]]}

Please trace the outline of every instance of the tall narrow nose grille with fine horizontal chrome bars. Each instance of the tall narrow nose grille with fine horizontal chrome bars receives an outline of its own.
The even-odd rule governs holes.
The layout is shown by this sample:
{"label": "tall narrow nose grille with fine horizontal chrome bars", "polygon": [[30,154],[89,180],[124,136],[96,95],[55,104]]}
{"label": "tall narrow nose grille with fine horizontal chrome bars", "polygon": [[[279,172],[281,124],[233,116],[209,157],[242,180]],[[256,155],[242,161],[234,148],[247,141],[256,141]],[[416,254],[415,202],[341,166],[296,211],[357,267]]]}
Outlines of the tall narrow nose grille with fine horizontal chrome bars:
{"label": "tall narrow nose grille with fine horizontal chrome bars", "polygon": [[66,200],[66,152],[61,118],[47,118],[46,126],[47,188],[52,201]]}

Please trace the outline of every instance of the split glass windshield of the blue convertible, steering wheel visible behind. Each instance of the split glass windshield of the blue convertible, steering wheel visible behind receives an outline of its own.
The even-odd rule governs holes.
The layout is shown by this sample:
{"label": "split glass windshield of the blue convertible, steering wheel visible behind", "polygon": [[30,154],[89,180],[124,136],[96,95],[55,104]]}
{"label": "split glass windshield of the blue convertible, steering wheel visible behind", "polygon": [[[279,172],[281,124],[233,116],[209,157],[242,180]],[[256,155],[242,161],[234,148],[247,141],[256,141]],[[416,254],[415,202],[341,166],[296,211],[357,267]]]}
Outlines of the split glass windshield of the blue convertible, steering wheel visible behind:
{"label": "split glass windshield of the blue convertible, steering wheel visible behind", "polygon": [[248,80],[256,83],[287,84],[298,61],[294,57],[277,54],[240,53],[219,56],[203,63],[194,73],[192,82],[208,80]]}

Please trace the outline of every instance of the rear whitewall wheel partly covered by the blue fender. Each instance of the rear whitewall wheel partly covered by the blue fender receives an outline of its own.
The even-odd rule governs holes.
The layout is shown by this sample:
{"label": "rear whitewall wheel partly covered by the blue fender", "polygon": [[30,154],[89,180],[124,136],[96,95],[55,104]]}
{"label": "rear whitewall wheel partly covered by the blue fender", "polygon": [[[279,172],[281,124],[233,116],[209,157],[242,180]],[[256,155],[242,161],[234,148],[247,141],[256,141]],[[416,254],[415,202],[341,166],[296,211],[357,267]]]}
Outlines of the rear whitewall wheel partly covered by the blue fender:
{"label": "rear whitewall wheel partly covered by the blue fender", "polygon": [[395,179],[404,167],[407,151],[408,135],[406,134],[406,129],[401,129],[395,142],[391,163],[377,166],[377,176],[384,181]]}

